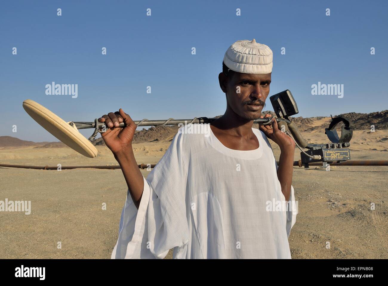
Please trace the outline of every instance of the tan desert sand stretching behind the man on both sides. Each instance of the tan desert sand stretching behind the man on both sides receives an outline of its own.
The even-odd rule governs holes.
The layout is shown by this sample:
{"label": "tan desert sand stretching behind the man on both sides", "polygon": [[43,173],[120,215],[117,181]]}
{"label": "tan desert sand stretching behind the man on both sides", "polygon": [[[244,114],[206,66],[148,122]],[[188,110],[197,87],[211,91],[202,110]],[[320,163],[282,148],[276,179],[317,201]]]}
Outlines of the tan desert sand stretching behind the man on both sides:
{"label": "tan desert sand stretching behind the man on both sides", "polygon": [[[327,122],[317,119],[314,126]],[[323,129],[302,134],[310,143],[328,142]],[[170,139],[134,144],[138,164],[157,163]],[[279,159],[278,146],[270,142]],[[3,148],[0,163],[117,165],[106,146],[97,149],[98,156],[89,159],[68,147]],[[353,160],[388,160],[388,130],[354,131],[350,150]],[[296,149],[294,160],[299,159]],[[388,258],[387,174],[388,166],[331,166],[330,171],[294,167],[299,214],[289,236],[292,258]],[[30,215],[0,212],[0,258],[111,257],[127,190],[120,169],[1,167],[0,180],[0,200],[31,201],[32,209]],[[166,258],[171,257],[170,251]]]}

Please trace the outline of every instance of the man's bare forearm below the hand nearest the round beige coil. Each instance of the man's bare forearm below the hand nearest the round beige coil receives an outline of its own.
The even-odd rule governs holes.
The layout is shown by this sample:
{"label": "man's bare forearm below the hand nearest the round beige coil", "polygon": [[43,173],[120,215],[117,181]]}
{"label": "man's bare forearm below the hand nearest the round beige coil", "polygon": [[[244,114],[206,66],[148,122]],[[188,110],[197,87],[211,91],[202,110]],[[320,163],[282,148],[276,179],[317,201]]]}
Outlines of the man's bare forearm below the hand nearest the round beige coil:
{"label": "man's bare forearm below the hand nearest the round beige coil", "polygon": [[120,164],[133,203],[139,209],[144,189],[144,179],[137,165],[132,147],[114,154],[114,157]]}

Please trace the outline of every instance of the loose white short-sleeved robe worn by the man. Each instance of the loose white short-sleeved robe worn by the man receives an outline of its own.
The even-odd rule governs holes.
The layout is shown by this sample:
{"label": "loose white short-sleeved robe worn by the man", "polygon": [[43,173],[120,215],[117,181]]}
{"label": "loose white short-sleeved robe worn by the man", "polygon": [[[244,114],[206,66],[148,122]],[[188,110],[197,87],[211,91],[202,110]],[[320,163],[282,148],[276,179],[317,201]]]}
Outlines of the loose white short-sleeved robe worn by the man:
{"label": "loose white short-sleeved robe worn by the man", "polygon": [[241,151],[210,126],[205,134],[181,127],[144,178],[139,210],[127,192],[112,258],[165,258],[172,248],[173,258],[291,258],[297,211],[267,211],[285,197],[268,139],[252,129],[259,148]]}

